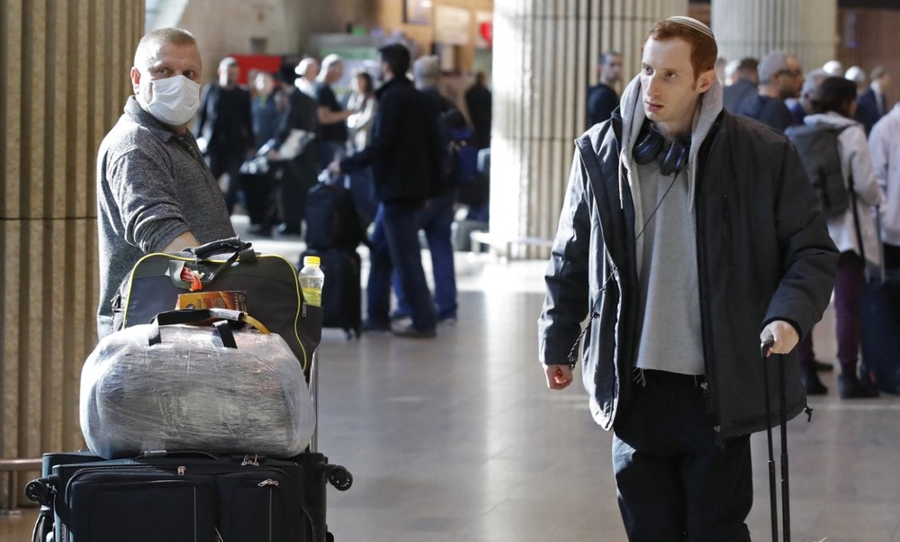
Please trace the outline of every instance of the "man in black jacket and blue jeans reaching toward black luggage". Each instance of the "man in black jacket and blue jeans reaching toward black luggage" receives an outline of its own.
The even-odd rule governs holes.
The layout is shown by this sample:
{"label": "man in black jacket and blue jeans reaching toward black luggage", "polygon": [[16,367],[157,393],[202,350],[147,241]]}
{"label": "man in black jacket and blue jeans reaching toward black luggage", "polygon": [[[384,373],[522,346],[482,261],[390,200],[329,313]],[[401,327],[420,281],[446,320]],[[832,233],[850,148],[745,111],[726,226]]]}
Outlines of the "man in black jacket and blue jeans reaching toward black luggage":
{"label": "man in black jacket and blue jeans reaching toward black luggage", "polygon": [[362,151],[334,162],[332,174],[372,165],[375,213],[370,238],[371,267],[366,288],[365,328],[391,330],[391,274],[396,270],[410,303],[412,323],[395,335],[429,338],[436,334],[436,315],[422,268],[419,212],[434,194],[440,170],[437,111],[406,77],[410,51],[400,43],[379,49],[385,83],[375,93],[378,112],[372,140]]}

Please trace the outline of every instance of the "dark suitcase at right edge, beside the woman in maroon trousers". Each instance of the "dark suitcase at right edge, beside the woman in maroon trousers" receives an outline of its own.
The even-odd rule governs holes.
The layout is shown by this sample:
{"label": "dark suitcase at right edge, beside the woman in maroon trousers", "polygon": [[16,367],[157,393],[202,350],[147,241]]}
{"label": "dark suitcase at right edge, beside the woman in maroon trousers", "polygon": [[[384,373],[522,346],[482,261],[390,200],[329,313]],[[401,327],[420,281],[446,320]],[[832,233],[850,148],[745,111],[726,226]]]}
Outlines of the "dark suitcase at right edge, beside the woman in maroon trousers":
{"label": "dark suitcase at right edge, beside the woman in maroon trousers", "polygon": [[860,308],[862,372],[887,393],[900,393],[900,276],[872,276]]}

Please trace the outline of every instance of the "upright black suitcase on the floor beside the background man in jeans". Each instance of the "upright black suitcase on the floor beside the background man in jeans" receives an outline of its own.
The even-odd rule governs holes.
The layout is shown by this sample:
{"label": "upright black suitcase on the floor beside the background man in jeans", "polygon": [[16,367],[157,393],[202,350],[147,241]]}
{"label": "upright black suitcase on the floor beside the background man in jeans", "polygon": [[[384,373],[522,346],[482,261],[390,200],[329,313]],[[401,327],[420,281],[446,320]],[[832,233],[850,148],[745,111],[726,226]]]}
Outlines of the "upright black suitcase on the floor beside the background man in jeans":
{"label": "upright black suitcase on the floor beside the background man in jeans", "polygon": [[327,248],[308,250],[300,257],[321,258],[325,285],[322,286],[322,327],[339,328],[347,333],[347,339],[362,332],[363,291],[361,279],[362,259],[355,249]]}

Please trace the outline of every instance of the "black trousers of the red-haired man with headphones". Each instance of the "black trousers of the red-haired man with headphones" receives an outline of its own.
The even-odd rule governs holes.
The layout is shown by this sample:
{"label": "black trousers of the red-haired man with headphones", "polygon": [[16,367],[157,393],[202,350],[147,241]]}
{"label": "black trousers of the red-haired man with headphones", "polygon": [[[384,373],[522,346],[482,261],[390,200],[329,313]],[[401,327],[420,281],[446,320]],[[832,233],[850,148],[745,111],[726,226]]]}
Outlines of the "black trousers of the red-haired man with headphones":
{"label": "black trousers of the red-haired man with headphones", "polygon": [[619,510],[631,542],[745,542],[750,436],[721,439],[698,380],[644,371],[613,437]]}

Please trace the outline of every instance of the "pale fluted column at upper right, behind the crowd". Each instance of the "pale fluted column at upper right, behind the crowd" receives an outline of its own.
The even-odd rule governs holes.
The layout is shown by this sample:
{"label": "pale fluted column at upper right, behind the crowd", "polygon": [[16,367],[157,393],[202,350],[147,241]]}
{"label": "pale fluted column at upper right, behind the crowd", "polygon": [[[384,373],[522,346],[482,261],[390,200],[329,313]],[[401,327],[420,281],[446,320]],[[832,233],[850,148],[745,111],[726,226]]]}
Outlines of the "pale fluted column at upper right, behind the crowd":
{"label": "pale fluted column at upper right, behind the crowd", "polygon": [[712,0],[710,18],[725,59],[784,50],[809,71],[837,58],[836,0]]}

